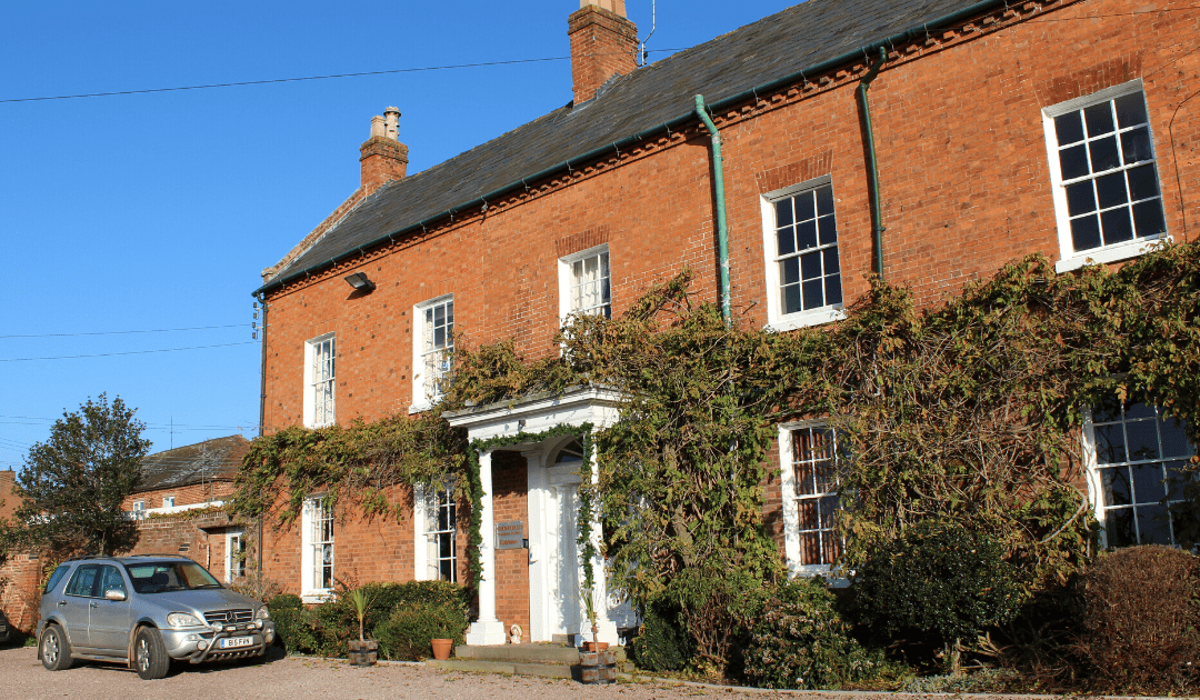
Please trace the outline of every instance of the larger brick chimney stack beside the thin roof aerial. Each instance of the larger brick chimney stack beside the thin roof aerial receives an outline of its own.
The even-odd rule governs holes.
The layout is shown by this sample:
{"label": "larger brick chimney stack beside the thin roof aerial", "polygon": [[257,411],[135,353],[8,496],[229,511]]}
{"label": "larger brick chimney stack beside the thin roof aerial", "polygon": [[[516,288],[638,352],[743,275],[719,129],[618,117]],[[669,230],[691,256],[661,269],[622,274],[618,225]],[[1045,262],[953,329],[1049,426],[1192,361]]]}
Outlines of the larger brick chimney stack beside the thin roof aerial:
{"label": "larger brick chimney stack beside the thin roof aerial", "polygon": [[637,68],[637,26],[625,18],[625,0],[580,0],[566,25],[576,104],[595,97],[608,78]]}

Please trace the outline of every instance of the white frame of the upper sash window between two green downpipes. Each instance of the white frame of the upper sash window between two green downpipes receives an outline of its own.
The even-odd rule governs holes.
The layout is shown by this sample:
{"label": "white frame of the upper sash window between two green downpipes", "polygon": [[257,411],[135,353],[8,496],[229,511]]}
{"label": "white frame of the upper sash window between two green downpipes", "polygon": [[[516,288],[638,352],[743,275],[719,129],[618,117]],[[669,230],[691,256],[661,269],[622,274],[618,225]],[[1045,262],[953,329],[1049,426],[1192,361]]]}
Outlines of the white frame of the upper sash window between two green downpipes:
{"label": "white frame of the upper sash window between two green downpipes", "polygon": [[[841,265],[841,232],[838,234],[838,241],[832,245],[818,245],[815,249],[810,249],[806,252],[816,252],[826,249],[838,250],[838,267],[839,267],[839,285],[842,292],[842,300],[836,304],[828,304],[826,306],[820,306],[816,309],[805,309],[803,311],[796,311],[792,313],[784,313],[784,300],[781,297],[782,282],[779,275],[779,263],[784,257],[792,257],[793,255],[798,257],[798,253],[788,253],[787,256],[775,255],[778,249],[778,243],[775,240],[775,203],[781,199],[790,199],[797,195],[803,195],[805,192],[811,192],[821,187],[829,187],[833,190],[833,175],[821,175],[820,178],[814,178],[811,180],[805,180],[797,185],[784,187],[781,190],[775,190],[773,192],[767,192],[763,195],[758,203],[762,210],[762,249],[763,258],[766,263],[766,285],[767,285],[767,329],[785,331],[794,330],[797,328],[804,328],[808,325],[820,325],[822,323],[829,323],[832,321],[841,321],[846,317],[846,285],[845,285],[845,268]],[[838,221],[838,197],[834,196],[834,222]]]}

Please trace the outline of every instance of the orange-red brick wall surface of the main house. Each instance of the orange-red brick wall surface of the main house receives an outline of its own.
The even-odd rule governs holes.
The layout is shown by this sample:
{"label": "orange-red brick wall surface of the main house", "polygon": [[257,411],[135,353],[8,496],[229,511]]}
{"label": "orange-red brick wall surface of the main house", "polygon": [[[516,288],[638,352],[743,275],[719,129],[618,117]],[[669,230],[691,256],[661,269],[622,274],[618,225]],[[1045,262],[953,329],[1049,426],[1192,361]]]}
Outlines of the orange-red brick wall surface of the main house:
{"label": "orange-red brick wall surface of the main house", "polygon": [[[1192,240],[1200,223],[1183,216],[1200,203],[1190,193],[1200,192],[1200,100],[1188,101],[1200,54],[1187,48],[1200,12],[1177,0],[1135,13],[1120,0],[1013,7],[898,47],[870,89],[884,271],[924,305],[1025,255],[1060,257],[1042,109],[1110,84],[1145,82],[1168,229]],[[810,76],[714,115],[725,142],[732,301],[750,324],[767,319],[762,195],[814,177],[832,178],[845,298],[868,291],[874,247],[856,100],[865,68]],[[302,420],[308,339],[337,335],[340,423],[403,413],[413,403],[414,305],[452,293],[460,347],[511,337],[541,357],[557,352],[559,257],[608,244],[614,313],[685,265],[697,295],[715,300],[714,235],[709,139],[696,127],[289,283],[268,300],[266,430]],[[378,288],[349,298],[342,277],[359,270]],[[772,484],[767,517],[778,538]],[[347,527],[347,538],[361,538],[348,545],[361,570],[412,575],[403,523]],[[294,569],[295,533],[269,546],[272,566]]]}

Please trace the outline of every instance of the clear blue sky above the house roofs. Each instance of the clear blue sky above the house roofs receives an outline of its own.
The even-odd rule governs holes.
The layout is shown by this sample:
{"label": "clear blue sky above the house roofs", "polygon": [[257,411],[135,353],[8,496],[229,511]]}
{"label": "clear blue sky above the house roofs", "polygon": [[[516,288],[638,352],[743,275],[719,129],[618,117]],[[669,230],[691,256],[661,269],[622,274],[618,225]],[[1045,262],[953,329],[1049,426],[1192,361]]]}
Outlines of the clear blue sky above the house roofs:
{"label": "clear blue sky above the house roofs", "polygon": [[[686,48],[793,4],[658,0],[648,48]],[[644,37],[650,0],[626,7]],[[11,2],[0,101],[566,56],[577,8]],[[570,98],[570,64],[554,60],[0,102],[0,469],[102,391],[138,408],[155,451],[253,437],[250,293],[358,186],[371,116],[401,109],[412,174]],[[124,333],[198,327],[228,328]],[[227,347],[110,354],[198,346]]]}

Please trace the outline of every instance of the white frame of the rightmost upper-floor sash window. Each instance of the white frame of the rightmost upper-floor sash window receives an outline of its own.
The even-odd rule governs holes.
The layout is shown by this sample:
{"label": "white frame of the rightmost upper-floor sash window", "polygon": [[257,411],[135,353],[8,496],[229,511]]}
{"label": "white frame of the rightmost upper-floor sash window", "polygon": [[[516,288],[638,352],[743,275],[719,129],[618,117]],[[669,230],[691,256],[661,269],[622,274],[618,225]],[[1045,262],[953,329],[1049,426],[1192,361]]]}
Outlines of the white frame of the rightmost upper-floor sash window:
{"label": "white frame of the rightmost upper-floor sash window", "polygon": [[[1141,94],[1142,100],[1145,100],[1146,92],[1142,89],[1141,78],[1138,78],[1135,80],[1129,80],[1128,83],[1123,83],[1121,85],[1105,88],[1104,90],[1100,90],[1098,92],[1092,92],[1091,95],[1075,97],[1074,100],[1068,100],[1066,102],[1046,107],[1042,110],[1042,127],[1046,142],[1046,163],[1050,167],[1050,183],[1051,183],[1051,193],[1054,196],[1055,221],[1058,229],[1058,256],[1061,259],[1055,264],[1055,269],[1058,273],[1078,270],[1079,268],[1086,264],[1115,263],[1118,261],[1133,258],[1162,246],[1164,241],[1171,240],[1169,233],[1159,233],[1142,238],[1135,237],[1133,240],[1121,241],[1110,245],[1102,245],[1100,247],[1090,249],[1080,252],[1075,251],[1075,244],[1072,240],[1070,214],[1067,207],[1067,187],[1063,185],[1063,179],[1062,179],[1062,164],[1058,160],[1058,136],[1055,130],[1054,120],[1056,116],[1062,116],[1063,114],[1068,114],[1070,112],[1079,112],[1093,104],[1098,104],[1100,102],[1108,102],[1110,100],[1116,100],[1117,97],[1123,97],[1126,95],[1130,95],[1134,92]],[[1163,181],[1162,177],[1158,173],[1158,155],[1154,152],[1154,133],[1153,128],[1151,128],[1148,119],[1150,114],[1148,106],[1146,109],[1146,114],[1147,114],[1146,127],[1147,130],[1150,130],[1150,137],[1151,137],[1150,138],[1150,149],[1152,154],[1151,160],[1139,161],[1136,164],[1129,164],[1129,166],[1121,164],[1118,168],[1114,168],[1112,170],[1105,170],[1105,173],[1123,172],[1132,167],[1145,166],[1147,162],[1151,163],[1154,168],[1154,174],[1158,178],[1159,202],[1162,203]],[[1120,132],[1120,126],[1117,127],[1117,132]],[[1088,175],[1087,178],[1072,180],[1072,183],[1082,181],[1084,179],[1094,180],[1096,178],[1097,175]],[[1163,214],[1164,216],[1166,214],[1165,207]]]}

